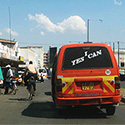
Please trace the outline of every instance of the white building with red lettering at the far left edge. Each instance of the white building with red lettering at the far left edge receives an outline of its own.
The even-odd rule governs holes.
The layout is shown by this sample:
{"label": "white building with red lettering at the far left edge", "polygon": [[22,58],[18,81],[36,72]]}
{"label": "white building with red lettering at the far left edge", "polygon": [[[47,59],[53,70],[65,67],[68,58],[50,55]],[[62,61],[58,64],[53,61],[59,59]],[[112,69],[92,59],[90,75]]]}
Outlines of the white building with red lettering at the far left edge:
{"label": "white building with red lettering at the far left edge", "polygon": [[17,41],[0,39],[0,66],[4,67],[7,64],[18,67],[19,64],[24,64],[24,61],[23,58],[19,58]]}

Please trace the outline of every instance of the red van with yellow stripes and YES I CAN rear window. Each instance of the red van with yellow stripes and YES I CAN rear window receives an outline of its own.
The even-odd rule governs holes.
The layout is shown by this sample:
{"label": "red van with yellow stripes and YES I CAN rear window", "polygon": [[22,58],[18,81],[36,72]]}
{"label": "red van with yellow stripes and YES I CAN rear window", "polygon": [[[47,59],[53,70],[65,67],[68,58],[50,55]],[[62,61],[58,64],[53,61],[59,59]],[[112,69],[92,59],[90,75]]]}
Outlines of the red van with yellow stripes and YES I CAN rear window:
{"label": "red van with yellow stripes and YES I CAN rear window", "polygon": [[120,74],[111,47],[103,43],[61,47],[52,70],[52,98],[61,106],[93,105],[115,113],[120,103]]}

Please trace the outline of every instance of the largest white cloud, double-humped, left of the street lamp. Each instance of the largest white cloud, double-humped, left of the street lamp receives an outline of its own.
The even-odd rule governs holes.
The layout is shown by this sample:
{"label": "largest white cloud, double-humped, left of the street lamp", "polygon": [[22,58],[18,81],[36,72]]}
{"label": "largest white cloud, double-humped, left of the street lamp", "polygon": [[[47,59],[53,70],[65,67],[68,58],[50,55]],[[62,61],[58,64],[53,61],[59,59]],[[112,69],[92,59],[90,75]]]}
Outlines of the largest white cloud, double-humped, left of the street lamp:
{"label": "largest white cloud, double-humped, left of the street lamp", "polygon": [[54,24],[44,14],[28,15],[29,20],[37,22],[37,27],[45,29],[48,32],[80,32],[86,33],[85,21],[80,16],[70,16],[68,19],[64,19],[62,22]]}

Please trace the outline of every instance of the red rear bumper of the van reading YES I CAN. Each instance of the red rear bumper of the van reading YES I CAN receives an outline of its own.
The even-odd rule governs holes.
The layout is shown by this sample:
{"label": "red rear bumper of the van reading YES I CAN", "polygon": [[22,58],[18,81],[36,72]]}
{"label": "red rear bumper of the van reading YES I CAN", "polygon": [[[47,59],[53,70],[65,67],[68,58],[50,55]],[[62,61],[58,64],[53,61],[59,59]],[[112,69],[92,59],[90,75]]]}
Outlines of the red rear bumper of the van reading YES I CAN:
{"label": "red rear bumper of the van reading YES I CAN", "polygon": [[57,98],[58,105],[104,105],[120,103],[121,95],[103,97]]}

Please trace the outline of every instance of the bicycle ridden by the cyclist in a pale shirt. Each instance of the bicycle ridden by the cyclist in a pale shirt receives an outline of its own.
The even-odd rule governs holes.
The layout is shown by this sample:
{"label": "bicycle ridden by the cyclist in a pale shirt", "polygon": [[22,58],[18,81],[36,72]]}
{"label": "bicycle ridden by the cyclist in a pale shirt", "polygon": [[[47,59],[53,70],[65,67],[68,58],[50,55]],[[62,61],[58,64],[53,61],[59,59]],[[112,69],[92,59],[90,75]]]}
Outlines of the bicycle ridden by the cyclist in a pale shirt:
{"label": "bicycle ridden by the cyclist in a pale shirt", "polygon": [[29,92],[29,100],[32,100],[33,96],[35,95],[35,92],[34,92],[35,82],[36,82],[35,78],[33,76],[31,76],[29,78],[28,86],[27,86],[27,89]]}

